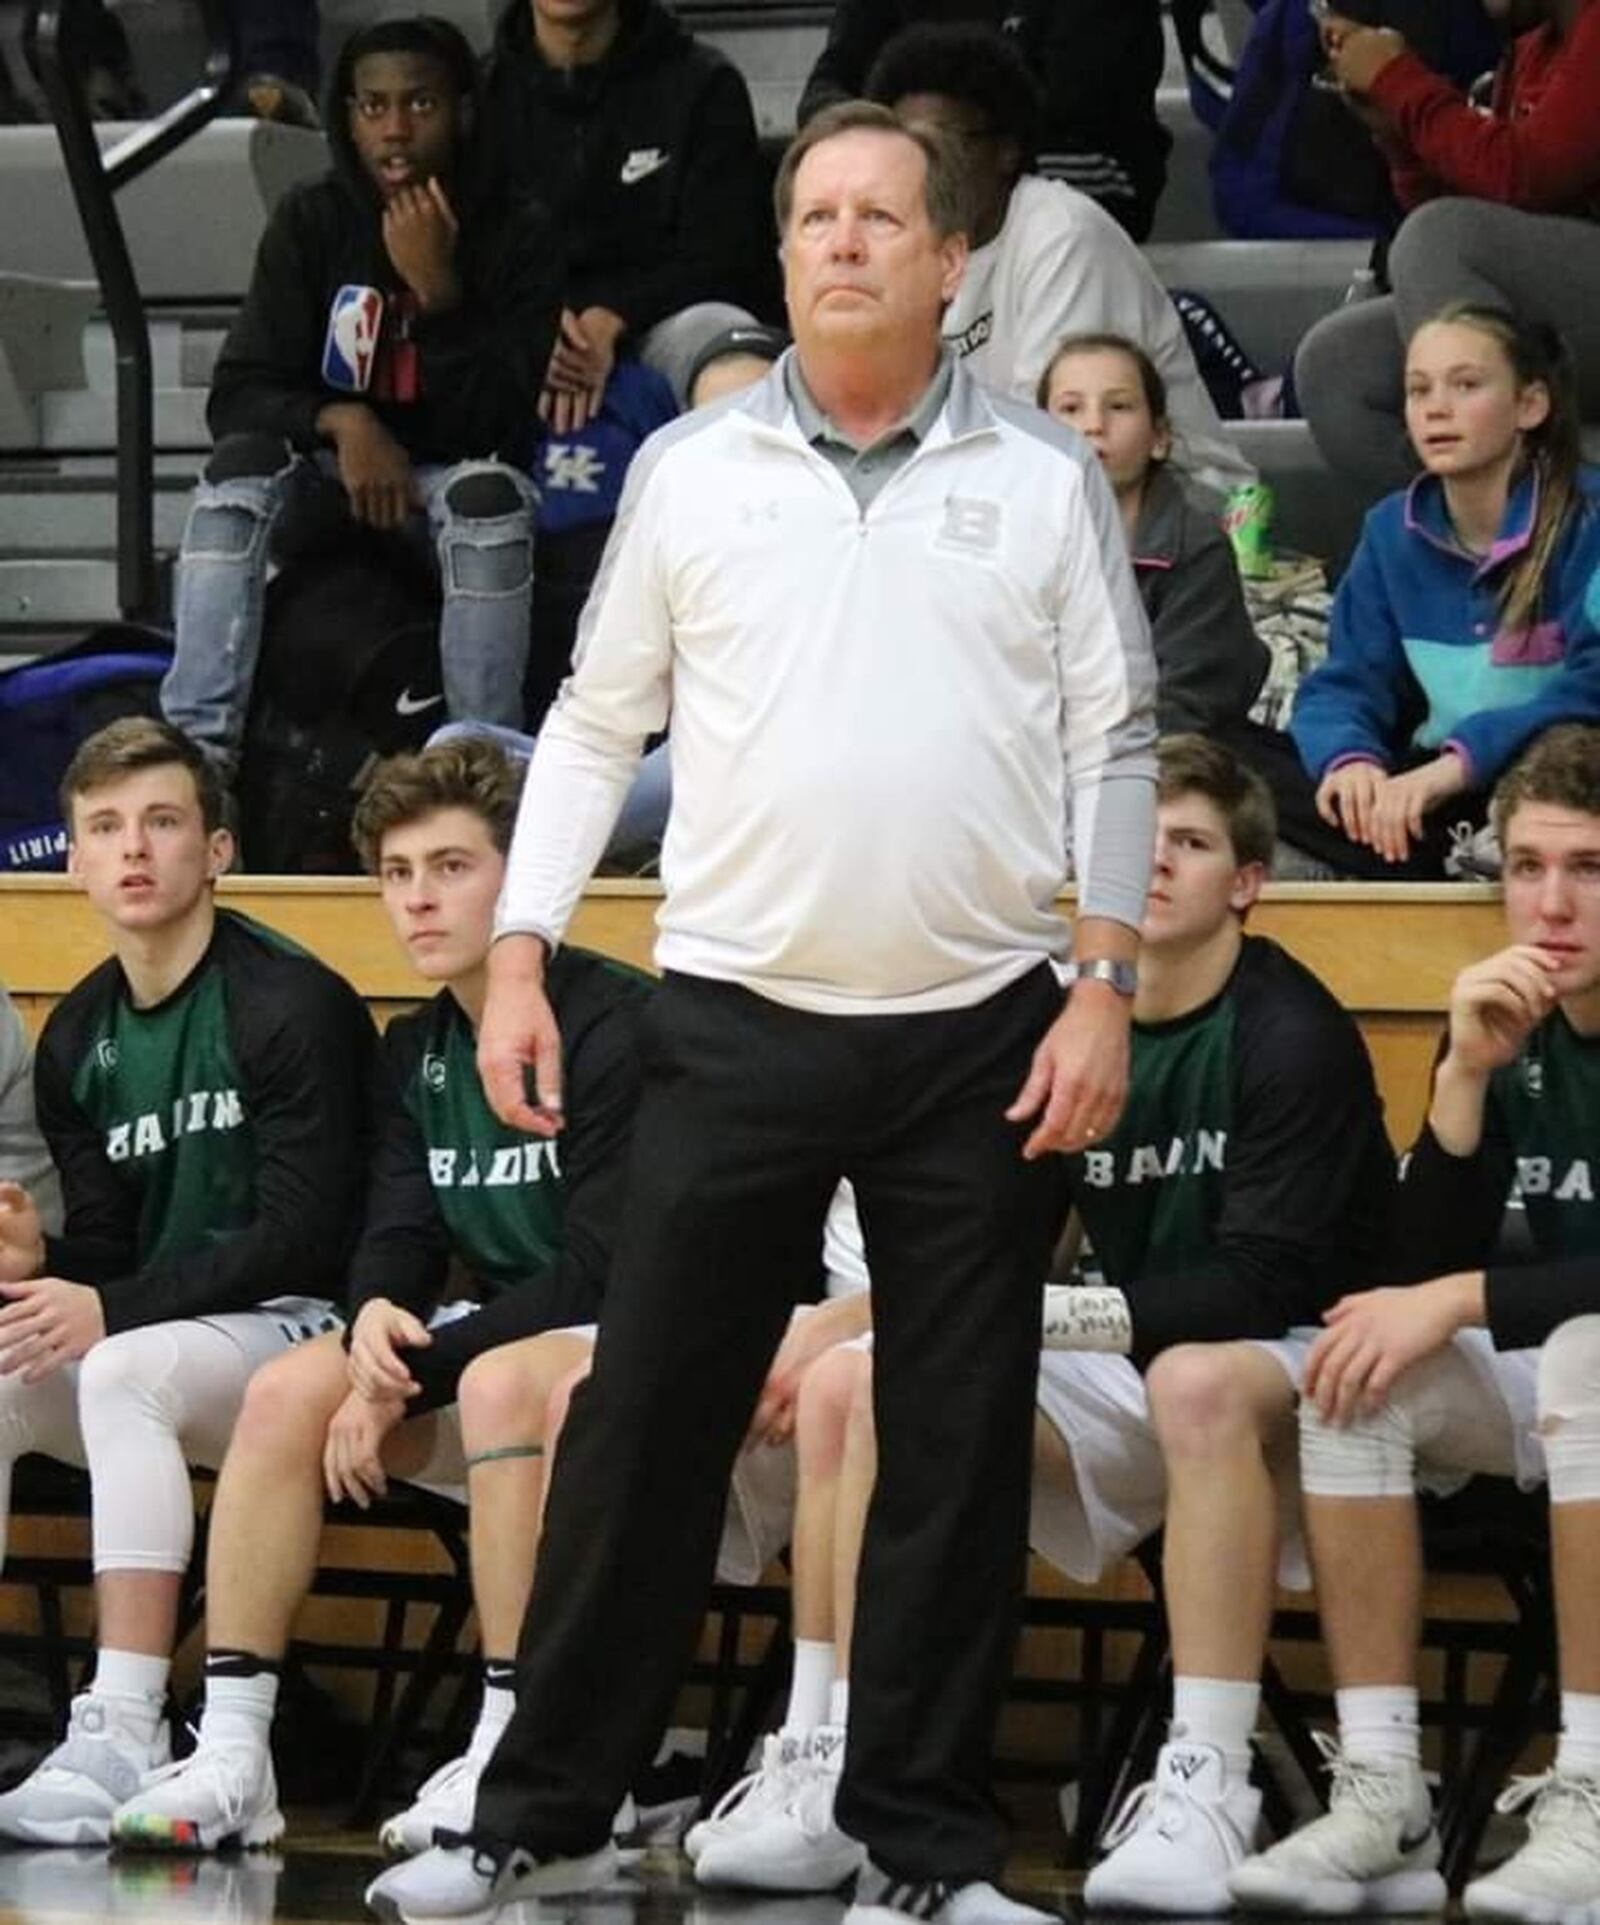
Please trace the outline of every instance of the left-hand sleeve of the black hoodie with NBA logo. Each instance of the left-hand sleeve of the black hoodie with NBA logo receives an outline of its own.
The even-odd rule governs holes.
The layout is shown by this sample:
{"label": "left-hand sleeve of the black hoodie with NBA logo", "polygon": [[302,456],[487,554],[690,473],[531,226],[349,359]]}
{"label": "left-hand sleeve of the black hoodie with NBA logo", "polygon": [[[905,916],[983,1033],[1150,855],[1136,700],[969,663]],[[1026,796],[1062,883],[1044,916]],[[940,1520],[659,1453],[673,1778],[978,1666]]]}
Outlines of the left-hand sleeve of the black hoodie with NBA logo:
{"label": "left-hand sleeve of the black hoodie with NBA logo", "polygon": [[318,445],[318,410],[337,398],[322,383],[327,275],[318,219],[333,192],[331,181],[289,192],[268,221],[250,291],[212,373],[206,422],[218,441],[270,433],[302,452]]}

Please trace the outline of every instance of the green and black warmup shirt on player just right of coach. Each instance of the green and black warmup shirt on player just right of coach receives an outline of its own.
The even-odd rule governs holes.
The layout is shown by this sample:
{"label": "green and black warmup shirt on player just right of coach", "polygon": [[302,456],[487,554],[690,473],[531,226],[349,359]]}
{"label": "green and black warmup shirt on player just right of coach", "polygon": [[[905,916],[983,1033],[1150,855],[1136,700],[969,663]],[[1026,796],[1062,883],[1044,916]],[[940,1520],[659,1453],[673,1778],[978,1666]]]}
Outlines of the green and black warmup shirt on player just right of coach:
{"label": "green and black warmup shirt on player just right of coach", "polygon": [[1367,1049],[1265,937],[1244,939],[1209,1003],[1134,1022],[1126,1109],[1069,1170],[1140,1363],[1315,1322],[1388,1236],[1394,1153]]}

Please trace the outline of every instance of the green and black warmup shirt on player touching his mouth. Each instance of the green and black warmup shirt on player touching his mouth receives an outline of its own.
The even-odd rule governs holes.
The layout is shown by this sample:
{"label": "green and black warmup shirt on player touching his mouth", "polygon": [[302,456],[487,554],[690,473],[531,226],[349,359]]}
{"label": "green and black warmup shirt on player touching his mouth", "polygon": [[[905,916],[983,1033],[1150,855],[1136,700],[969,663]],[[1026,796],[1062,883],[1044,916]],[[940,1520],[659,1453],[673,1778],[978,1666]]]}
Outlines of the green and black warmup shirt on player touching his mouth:
{"label": "green and black warmup shirt on player touching his mouth", "polygon": [[[1452,1157],[1425,1124],[1400,1188],[1404,1276],[1484,1270],[1496,1349],[1542,1344],[1600,1309],[1600,1038],[1560,1009],[1488,1080],[1483,1138]],[[1506,1203],[1521,1197],[1535,1257],[1496,1261]]]}

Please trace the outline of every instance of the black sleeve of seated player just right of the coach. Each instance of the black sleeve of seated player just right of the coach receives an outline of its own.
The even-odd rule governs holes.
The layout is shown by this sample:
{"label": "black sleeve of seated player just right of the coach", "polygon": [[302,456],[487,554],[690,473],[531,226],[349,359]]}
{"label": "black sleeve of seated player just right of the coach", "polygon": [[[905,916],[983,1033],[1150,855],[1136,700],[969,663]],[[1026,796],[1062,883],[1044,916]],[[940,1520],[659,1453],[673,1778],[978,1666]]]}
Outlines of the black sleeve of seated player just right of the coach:
{"label": "black sleeve of seated player just right of the coach", "polygon": [[1317,1322],[1388,1230],[1394,1155],[1355,1022],[1280,949],[1240,968],[1223,1209],[1201,1261],[1126,1286],[1140,1363]]}

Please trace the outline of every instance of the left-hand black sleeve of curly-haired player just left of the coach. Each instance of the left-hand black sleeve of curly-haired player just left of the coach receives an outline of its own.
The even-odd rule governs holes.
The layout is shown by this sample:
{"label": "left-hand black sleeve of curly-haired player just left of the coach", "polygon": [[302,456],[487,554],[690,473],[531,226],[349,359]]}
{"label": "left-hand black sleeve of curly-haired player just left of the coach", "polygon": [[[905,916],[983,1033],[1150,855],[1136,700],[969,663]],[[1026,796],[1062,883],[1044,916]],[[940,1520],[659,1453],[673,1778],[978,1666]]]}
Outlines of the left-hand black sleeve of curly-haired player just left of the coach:
{"label": "left-hand black sleeve of curly-haired player just left of the coach", "polygon": [[449,1276],[451,1234],[427,1178],[427,1143],[404,1101],[426,1038],[427,1011],[418,1011],[397,1016],[377,1043],[366,1217],[350,1257],[352,1322],[372,1297],[426,1319]]}

